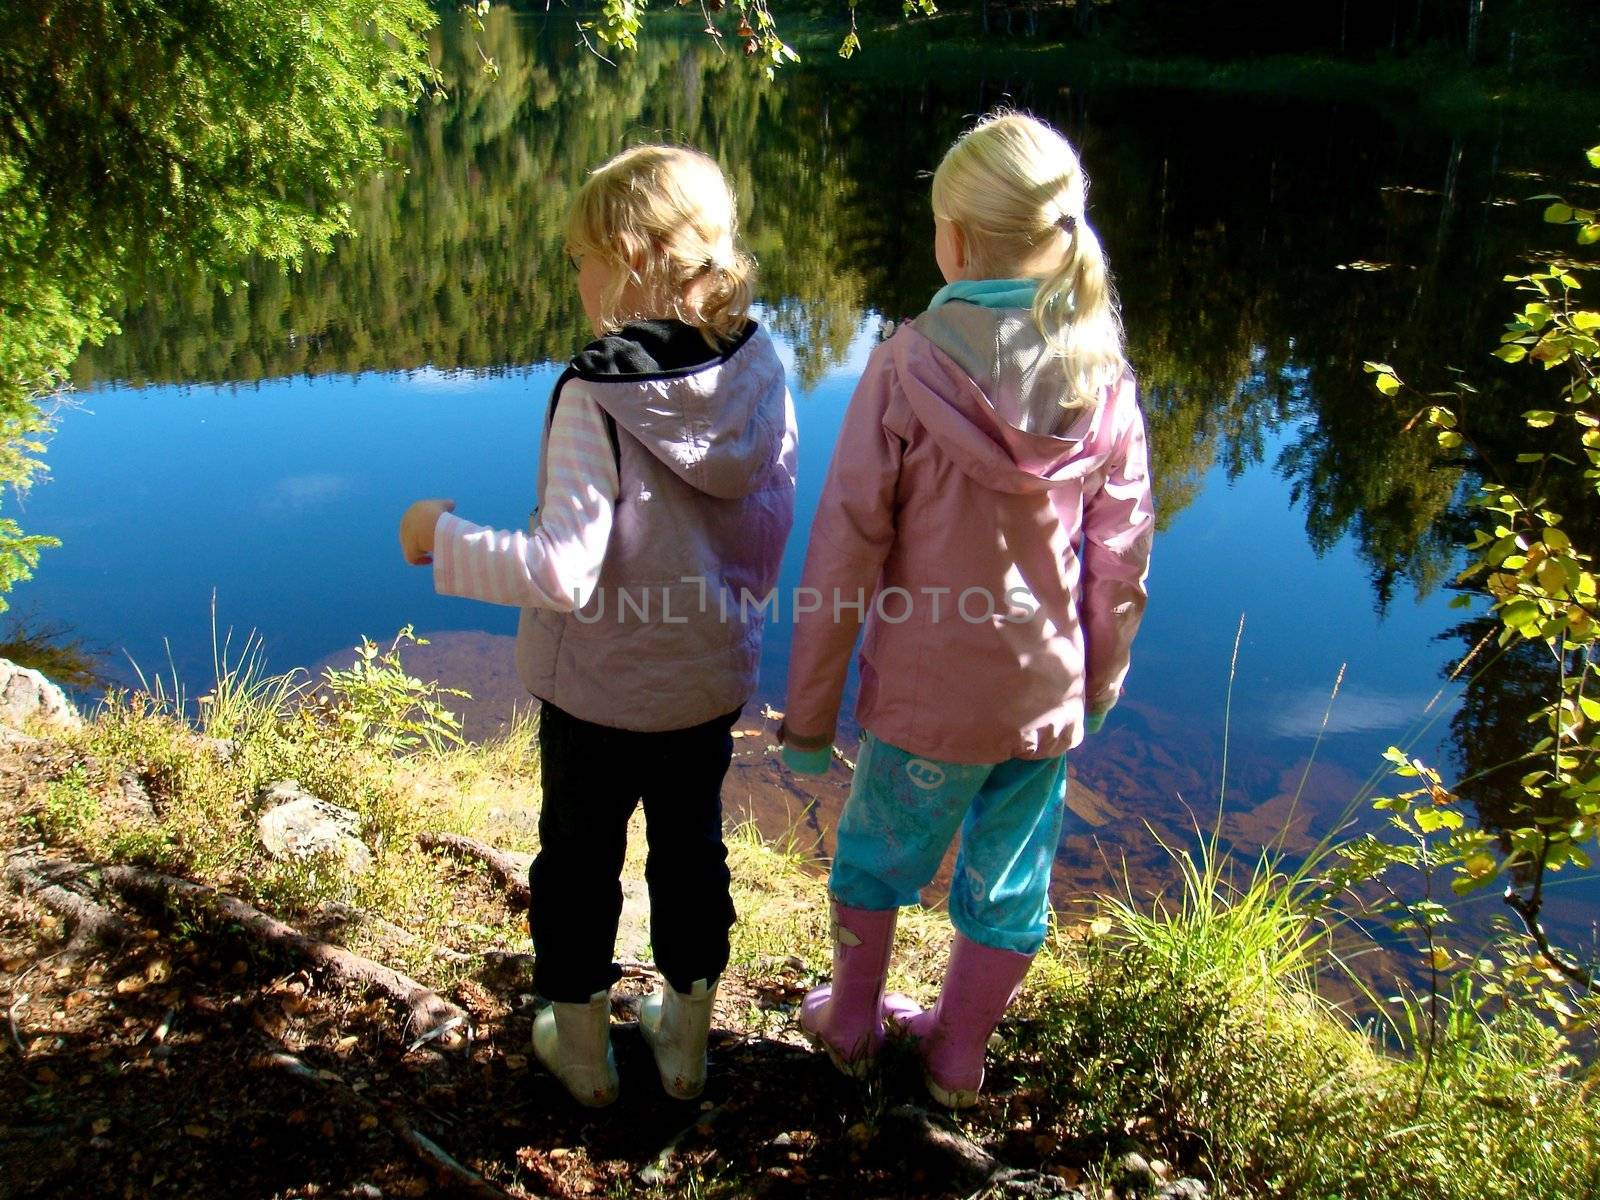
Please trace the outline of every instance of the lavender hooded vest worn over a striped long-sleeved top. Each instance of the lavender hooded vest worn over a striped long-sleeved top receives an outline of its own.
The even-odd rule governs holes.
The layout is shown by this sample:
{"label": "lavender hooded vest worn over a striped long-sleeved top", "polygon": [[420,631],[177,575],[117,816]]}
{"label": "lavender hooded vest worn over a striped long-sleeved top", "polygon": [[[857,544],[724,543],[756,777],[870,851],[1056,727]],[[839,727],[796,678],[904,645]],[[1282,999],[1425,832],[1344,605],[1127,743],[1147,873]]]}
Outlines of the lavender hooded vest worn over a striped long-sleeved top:
{"label": "lavender hooded vest worn over a striped long-sleeved top", "polygon": [[771,338],[750,322],[725,355],[674,371],[574,366],[552,414],[568,394],[616,422],[621,496],[589,603],[522,611],[523,685],[622,730],[733,712],[755,691],[762,646],[762,610],[739,598],[771,590],[794,523],[795,416]]}

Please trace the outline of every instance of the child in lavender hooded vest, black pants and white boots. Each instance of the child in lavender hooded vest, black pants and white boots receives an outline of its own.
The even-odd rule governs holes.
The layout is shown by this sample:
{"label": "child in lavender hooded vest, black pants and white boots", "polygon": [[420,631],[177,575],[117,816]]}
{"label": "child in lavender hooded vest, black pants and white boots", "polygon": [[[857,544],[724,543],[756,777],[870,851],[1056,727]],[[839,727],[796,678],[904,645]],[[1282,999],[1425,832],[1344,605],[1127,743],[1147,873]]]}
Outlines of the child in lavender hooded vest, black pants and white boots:
{"label": "child in lavender hooded vest, black pants and white boots", "polygon": [[771,339],[746,315],[717,163],[635,146],[597,168],[566,224],[598,334],[544,418],[531,533],[418,501],[406,560],[434,586],[522,608],[517,670],[538,696],[533,1048],[582,1104],[616,1099],[610,990],[627,821],[643,803],[650,936],[667,986],[640,1029],[666,1090],[698,1096],[733,901],[722,840],[731,730],[755,690],[760,611],[794,523],[795,421]]}

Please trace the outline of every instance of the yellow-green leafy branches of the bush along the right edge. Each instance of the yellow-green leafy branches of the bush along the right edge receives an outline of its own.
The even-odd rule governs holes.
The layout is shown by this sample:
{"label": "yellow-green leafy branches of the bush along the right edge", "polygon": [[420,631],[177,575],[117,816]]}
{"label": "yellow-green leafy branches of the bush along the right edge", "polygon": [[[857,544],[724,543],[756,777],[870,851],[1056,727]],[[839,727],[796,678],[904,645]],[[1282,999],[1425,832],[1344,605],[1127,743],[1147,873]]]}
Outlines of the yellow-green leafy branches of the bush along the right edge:
{"label": "yellow-green leafy branches of the bush along the right edge", "polygon": [[[1600,146],[1589,150],[1600,168]],[[1600,242],[1594,208],[1555,200],[1544,218],[1571,226],[1581,246]],[[1520,413],[1523,445],[1515,462],[1501,458],[1480,440],[1472,418],[1478,392],[1458,382],[1448,392],[1422,395],[1418,414],[1435,432],[1440,446],[1470,454],[1486,482],[1474,499],[1477,528],[1469,542],[1470,562],[1461,582],[1488,600],[1493,618],[1480,648],[1491,638],[1509,651],[1502,686],[1470,698],[1458,726],[1490,728],[1491,754],[1504,760],[1475,758],[1477,776],[1514,776],[1515,789],[1498,789],[1493,824],[1467,827],[1458,800],[1440,773],[1398,749],[1389,757],[1397,774],[1416,779],[1398,797],[1379,800],[1403,837],[1398,845],[1368,838],[1360,843],[1360,862],[1371,875],[1389,866],[1424,870],[1427,878],[1450,875],[1458,894],[1469,894],[1509,877],[1506,904],[1520,918],[1536,954],[1512,963],[1510,978],[1533,987],[1562,1019],[1579,1016],[1555,984],[1576,986],[1584,995],[1582,1019],[1597,1021],[1600,987],[1594,968],[1574,962],[1552,946],[1542,923],[1546,878],[1563,869],[1587,870],[1600,845],[1600,590],[1595,582],[1595,510],[1600,509],[1600,312],[1584,301],[1579,272],[1590,262],[1555,258],[1544,267],[1507,282],[1530,296],[1514,314],[1494,352],[1517,370],[1534,366],[1541,382],[1518,387],[1517,408],[1534,397],[1534,408]],[[1368,363],[1378,389],[1400,395],[1405,384],[1387,363]],[[1448,402],[1442,403],[1442,402]],[[1552,438],[1552,434],[1558,434]],[[1571,502],[1576,501],[1576,509]],[[1562,502],[1562,510],[1555,507]],[[1579,518],[1573,520],[1573,514]],[[1469,626],[1472,627],[1472,626]],[[1509,680],[1509,685],[1504,685]],[[1501,714],[1494,714],[1494,709]],[[1510,712],[1504,712],[1510,709]],[[1510,720],[1486,722],[1488,715]],[[1520,717],[1520,722],[1517,720]],[[1506,736],[1522,725],[1522,736]],[[1430,957],[1438,928],[1450,914],[1438,904],[1405,904],[1402,928],[1427,934]],[[1470,955],[1469,955],[1470,957]]]}

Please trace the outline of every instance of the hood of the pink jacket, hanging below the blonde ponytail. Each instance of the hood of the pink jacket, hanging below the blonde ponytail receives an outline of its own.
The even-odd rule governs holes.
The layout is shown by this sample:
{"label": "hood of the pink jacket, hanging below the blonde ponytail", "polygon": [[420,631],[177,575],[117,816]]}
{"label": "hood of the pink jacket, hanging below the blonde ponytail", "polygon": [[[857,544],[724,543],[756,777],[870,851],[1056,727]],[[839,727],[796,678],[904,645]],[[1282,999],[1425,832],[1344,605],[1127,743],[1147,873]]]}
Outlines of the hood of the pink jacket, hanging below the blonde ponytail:
{"label": "hood of the pink jacket, hanging below the blonde ponytail", "polygon": [[[1110,403],[1077,413],[1051,405],[1066,374],[1026,309],[942,304],[896,333],[890,349],[917,419],[986,488],[1048,491],[1098,470],[1112,451]],[[1037,413],[1059,429],[1030,429]]]}

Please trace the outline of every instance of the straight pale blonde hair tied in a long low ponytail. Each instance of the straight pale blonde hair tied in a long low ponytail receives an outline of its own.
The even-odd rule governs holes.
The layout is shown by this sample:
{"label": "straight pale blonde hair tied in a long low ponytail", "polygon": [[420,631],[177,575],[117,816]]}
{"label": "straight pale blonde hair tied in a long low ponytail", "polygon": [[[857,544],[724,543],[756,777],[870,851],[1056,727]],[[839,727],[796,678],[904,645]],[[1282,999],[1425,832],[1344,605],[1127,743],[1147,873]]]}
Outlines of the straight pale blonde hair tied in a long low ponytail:
{"label": "straight pale blonde hair tied in a long low ponytail", "polygon": [[986,117],[933,174],[933,213],[960,226],[973,264],[1010,278],[1053,261],[1034,323],[1064,360],[1062,408],[1091,408],[1126,370],[1106,251],[1085,218],[1088,179],[1072,144],[1019,112]]}

